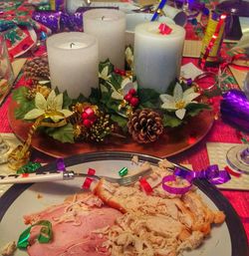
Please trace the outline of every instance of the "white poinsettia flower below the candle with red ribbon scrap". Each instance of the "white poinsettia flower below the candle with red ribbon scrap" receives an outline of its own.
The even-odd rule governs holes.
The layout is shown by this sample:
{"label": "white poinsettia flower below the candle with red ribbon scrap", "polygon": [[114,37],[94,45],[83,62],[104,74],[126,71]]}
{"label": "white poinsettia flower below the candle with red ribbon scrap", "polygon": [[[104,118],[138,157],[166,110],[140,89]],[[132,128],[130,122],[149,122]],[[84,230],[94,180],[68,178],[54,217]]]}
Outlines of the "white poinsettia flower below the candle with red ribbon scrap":
{"label": "white poinsettia flower below the candle with red ribbon scrap", "polygon": [[194,92],[194,88],[189,88],[186,91],[182,91],[182,87],[177,83],[174,87],[173,96],[170,95],[160,95],[160,100],[162,101],[161,109],[165,110],[175,110],[175,116],[183,120],[188,104],[196,104],[193,100],[197,98],[200,94]]}

